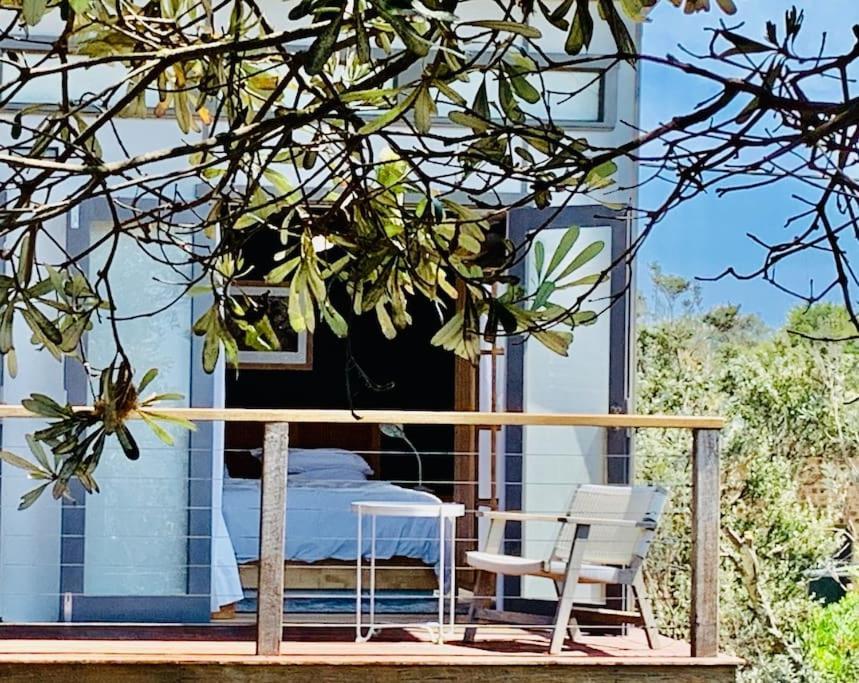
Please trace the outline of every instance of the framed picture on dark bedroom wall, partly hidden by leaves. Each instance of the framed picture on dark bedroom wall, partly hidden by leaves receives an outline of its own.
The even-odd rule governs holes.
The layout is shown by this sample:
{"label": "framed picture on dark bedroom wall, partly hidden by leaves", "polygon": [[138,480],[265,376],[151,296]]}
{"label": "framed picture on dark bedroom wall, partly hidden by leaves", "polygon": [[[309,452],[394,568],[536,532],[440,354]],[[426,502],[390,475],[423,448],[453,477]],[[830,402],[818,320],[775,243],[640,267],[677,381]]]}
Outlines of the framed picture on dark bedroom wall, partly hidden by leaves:
{"label": "framed picture on dark bedroom wall, partly hidden by leaves", "polygon": [[311,370],[313,335],[295,332],[289,324],[289,288],[264,282],[238,282],[230,291],[243,294],[265,306],[271,326],[280,342],[277,351],[260,351],[245,344],[245,335],[230,325],[239,346],[239,367],[254,370]]}

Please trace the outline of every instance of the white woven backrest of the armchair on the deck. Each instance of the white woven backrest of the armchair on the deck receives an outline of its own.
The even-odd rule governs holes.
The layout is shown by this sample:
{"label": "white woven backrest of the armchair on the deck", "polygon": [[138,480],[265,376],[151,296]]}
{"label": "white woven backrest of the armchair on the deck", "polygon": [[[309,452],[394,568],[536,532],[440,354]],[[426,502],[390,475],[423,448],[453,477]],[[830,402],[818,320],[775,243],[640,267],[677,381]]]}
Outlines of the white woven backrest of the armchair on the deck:
{"label": "white woven backrest of the armchair on the deck", "polygon": [[[648,522],[655,527],[667,498],[668,491],[661,486],[581,484],[573,491],[567,514]],[[551,560],[567,561],[574,532],[574,524],[561,525]],[[594,525],[585,543],[584,562],[636,567],[646,557],[653,535],[653,529],[644,527]]]}

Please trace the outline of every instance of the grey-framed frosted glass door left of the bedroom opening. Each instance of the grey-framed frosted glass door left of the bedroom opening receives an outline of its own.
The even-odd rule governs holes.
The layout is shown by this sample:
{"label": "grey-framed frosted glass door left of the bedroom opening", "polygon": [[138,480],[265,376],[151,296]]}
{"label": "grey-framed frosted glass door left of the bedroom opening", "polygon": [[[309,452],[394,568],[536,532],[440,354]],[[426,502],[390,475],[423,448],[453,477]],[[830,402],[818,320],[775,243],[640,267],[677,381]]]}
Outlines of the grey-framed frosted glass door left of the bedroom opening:
{"label": "grey-framed frosted glass door left of the bedroom opening", "polygon": [[[163,240],[144,247],[113,226],[107,205],[91,202],[69,230],[73,251],[90,249],[84,267],[91,280],[113,259],[110,286],[121,320],[115,329],[106,317],[95,321],[86,337],[89,363],[110,364],[118,334],[137,376],[158,368],[147,393],[182,394],[175,405],[211,405],[212,383],[197,370],[191,332],[197,306],[182,296],[190,266],[175,265],[186,260],[181,247]],[[69,364],[67,383],[72,402],[91,402],[79,366]],[[101,493],[76,491],[75,501],[64,506],[63,619],[209,618],[211,428],[165,428],[172,444],[145,424],[132,424],[139,460],[128,460],[114,442],[96,472]]]}

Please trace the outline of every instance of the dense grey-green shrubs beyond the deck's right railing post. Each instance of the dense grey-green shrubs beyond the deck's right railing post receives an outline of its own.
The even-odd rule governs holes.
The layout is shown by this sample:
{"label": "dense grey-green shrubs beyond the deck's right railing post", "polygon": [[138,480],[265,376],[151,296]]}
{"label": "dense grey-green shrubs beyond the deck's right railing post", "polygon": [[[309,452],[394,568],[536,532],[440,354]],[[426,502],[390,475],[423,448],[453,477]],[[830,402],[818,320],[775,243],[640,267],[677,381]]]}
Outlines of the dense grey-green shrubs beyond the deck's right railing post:
{"label": "dense grey-green shrubs beyond the deck's right railing post", "polygon": [[[781,328],[769,330],[736,307],[703,311],[696,300],[677,301],[675,293],[686,290],[673,280],[664,284],[664,277],[657,271],[654,286],[669,315],[641,307],[636,410],[727,418],[722,648],[745,660],[743,683],[859,681],[856,598],[832,621],[821,622],[820,634],[812,637],[815,629],[806,627],[813,615],[823,618],[817,617],[823,608],[808,591],[808,575],[829,566],[842,545],[851,463],[859,459],[859,401],[853,400],[859,396],[859,345],[808,336],[849,337],[855,327],[843,307],[818,305],[791,312]],[[637,479],[671,488],[645,572],[660,630],[679,639],[689,637],[689,445],[689,435],[679,430],[636,435]],[[817,491],[813,501],[807,482]],[[848,612],[852,649],[843,630]],[[829,641],[823,637],[827,628]],[[841,677],[827,678],[827,658],[838,662]]]}

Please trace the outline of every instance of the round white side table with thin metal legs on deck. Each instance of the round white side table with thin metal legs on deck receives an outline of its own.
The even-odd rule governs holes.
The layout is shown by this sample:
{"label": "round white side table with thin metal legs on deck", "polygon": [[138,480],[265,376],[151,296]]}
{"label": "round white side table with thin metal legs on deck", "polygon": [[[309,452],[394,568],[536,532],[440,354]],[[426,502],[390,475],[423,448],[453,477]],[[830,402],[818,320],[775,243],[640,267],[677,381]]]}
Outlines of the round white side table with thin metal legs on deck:
{"label": "round white side table with thin metal legs on deck", "polygon": [[[408,503],[395,501],[357,501],[352,503],[352,511],[358,514],[358,559],[356,562],[356,596],[355,596],[355,640],[366,642],[380,628],[399,627],[403,624],[376,623],[376,518],[377,517],[435,517],[438,519],[438,624],[426,624],[430,628],[438,627],[438,642],[444,642],[444,597],[445,573],[449,569],[450,580],[447,581],[450,596],[450,625],[453,632],[456,617],[456,525],[457,517],[465,515],[465,506],[460,503]],[[370,621],[367,633],[364,634],[361,618],[362,586],[361,586],[361,556],[363,555],[363,526],[364,516],[370,518]],[[450,526],[450,559],[445,566],[445,527]]]}

